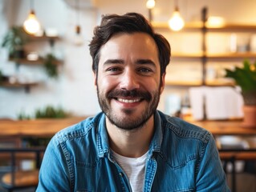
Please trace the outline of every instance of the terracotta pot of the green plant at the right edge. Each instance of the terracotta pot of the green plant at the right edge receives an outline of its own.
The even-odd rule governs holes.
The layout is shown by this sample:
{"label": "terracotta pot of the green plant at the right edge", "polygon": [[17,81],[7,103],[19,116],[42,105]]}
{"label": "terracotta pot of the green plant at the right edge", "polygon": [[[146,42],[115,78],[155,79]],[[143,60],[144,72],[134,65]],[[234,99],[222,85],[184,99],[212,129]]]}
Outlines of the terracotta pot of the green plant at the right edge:
{"label": "terracotta pot of the green plant at the right edge", "polygon": [[244,118],[242,126],[248,128],[256,128],[256,105],[243,106]]}

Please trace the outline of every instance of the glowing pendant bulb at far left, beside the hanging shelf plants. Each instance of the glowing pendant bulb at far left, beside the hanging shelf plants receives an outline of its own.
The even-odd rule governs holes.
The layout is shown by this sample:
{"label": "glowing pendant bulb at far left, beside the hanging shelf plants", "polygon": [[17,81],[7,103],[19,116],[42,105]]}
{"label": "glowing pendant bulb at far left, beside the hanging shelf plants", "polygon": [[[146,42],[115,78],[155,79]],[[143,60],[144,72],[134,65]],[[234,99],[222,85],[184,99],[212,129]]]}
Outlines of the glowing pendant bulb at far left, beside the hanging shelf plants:
{"label": "glowing pendant bulb at far left, beside the hanging shelf plants", "polygon": [[23,23],[23,28],[28,34],[36,34],[40,30],[39,20],[35,16],[34,7],[32,5],[33,0],[30,0],[30,14]]}

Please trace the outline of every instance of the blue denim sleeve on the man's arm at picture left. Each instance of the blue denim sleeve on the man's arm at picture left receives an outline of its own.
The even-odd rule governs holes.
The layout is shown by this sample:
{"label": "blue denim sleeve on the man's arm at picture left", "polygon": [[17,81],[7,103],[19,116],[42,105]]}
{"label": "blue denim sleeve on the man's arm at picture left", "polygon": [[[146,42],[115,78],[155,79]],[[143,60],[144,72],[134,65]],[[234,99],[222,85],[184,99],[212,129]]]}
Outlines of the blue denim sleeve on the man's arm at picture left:
{"label": "blue denim sleeve on the man's arm at picture left", "polygon": [[51,139],[39,171],[37,192],[71,191],[67,160],[56,137]]}

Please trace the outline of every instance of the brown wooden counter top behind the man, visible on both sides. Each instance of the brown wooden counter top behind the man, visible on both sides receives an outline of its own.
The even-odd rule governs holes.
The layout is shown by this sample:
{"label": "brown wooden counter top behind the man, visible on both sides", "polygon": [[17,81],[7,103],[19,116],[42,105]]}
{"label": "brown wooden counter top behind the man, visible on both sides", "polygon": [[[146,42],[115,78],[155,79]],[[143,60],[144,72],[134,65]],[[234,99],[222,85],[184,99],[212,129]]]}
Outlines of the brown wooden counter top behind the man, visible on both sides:
{"label": "brown wooden counter top behind the man, visible on both sides", "polygon": [[[36,119],[36,120],[0,120],[0,137],[6,136],[32,136],[51,137],[59,130],[82,121],[86,117],[63,119]],[[189,122],[209,130],[217,135],[256,135],[256,128],[242,126],[242,121],[193,121]]]}

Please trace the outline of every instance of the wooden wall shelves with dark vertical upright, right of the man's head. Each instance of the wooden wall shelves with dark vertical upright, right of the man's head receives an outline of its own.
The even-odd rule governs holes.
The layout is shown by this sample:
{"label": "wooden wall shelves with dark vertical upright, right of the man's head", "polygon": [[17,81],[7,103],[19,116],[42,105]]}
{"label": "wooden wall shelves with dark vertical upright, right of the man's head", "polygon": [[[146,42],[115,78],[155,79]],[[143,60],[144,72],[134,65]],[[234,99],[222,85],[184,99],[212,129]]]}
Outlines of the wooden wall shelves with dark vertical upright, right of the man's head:
{"label": "wooden wall shelves with dark vertical upright, right of the man's head", "polygon": [[[190,22],[185,23],[185,27],[181,32],[185,33],[200,33],[201,34],[201,50],[197,50],[194,53],[188,52],[175,52],[172,53],[172,58],[185,61],[197,61],[201,62],[201,74],[202,78],[200,80],[192,81],[166,81],[166,85],[169,86],[234,86],[234,82],[226,81],[226,79],[216,79],[216,80],[207,80],[206,79],[206,66],[208,62],[235,62],[242,61],[245,58],[253,59],[256,58],[256,52],[220,52],[220,53],[211,53],[208,51],[206,45],[206,35],[210,33],[255,33],[256,25],[250,24],[229,24],[226,23],[222,26],[209,26],[207,23],[207,9],[204,7],[201,10],[201,22]],[[152,22],[152,26],[156,30],[164,31],[165,33],[179,33],[169,30],[167,22]],[[168,75],[168,74],[167,74]]]}

